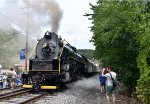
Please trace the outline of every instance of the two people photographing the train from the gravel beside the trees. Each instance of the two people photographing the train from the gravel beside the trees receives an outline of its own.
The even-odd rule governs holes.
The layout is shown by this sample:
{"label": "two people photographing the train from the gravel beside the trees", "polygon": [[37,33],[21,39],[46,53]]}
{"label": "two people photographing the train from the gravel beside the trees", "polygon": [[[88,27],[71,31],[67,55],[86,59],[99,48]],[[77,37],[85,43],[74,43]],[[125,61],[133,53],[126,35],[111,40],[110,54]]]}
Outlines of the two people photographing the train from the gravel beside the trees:
{"label": "two people photographing the train from the gravel beside the trees", "polygon": [[101,93],[106,92],[106,102],[107,104],[110,103],[110,98],[112,98],[113,104],[115,104],[115,90],[116,90],[116,73],[113,71],[112,68],[103,68],[100,70],[99,73],[99,80],[100,80],[100,91]]}

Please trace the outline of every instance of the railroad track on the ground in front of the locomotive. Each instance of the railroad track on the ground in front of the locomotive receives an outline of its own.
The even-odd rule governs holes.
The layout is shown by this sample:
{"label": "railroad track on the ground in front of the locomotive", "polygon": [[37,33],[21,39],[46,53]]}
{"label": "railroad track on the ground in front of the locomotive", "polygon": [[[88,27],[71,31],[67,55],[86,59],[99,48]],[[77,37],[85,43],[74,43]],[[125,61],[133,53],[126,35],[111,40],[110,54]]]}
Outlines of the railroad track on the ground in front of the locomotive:
{"label": "railroad track on the ground in front of the locomotive", "polygon": [[10,93],[6,93],[0,96],[0,103],[5,104],[31,104],[39,99],[41,97],[47,96],[47,95],[53,95],[53,93],[49,92],[43,92],[43,93],[30,93],[31,90],[28,89],[22,89],[18,91],[13,91]]}

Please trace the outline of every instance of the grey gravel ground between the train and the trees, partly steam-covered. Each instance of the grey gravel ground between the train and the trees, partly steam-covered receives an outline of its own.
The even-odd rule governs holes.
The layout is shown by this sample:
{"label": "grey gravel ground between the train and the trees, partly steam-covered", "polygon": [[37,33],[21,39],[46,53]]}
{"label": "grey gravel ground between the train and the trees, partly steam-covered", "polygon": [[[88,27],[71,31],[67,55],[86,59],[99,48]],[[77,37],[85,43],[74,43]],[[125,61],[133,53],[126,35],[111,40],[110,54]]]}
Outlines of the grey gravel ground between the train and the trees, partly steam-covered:
{"label": "grey gravel ground between the train and the trees, partly steam-covered", "polygon": [[[100,93],[99,77],[90,78],[70,83],[68,89],[55,92],[34,104],[106,104],[105,93]],[[131,98],[116,94],[116,104],[140,104]]]}

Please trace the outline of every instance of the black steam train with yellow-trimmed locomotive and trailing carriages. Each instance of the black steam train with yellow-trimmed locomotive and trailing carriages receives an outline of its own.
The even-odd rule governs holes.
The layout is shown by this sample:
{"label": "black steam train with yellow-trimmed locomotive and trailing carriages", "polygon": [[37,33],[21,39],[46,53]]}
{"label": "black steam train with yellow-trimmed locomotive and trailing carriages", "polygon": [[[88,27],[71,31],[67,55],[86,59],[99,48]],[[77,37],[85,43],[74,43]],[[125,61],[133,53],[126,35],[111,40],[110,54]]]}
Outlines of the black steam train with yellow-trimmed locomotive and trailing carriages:
{"label": "black steam train with yellow-trimmed locomotive and trailing carriages", "polygon": [[76,80],[97,72],[97,67],[77,49],[58,37],[46,32],[38,40],[36,55],[29,60],[29,71],[22,75],[23,87],[57,89],[62,83]]}

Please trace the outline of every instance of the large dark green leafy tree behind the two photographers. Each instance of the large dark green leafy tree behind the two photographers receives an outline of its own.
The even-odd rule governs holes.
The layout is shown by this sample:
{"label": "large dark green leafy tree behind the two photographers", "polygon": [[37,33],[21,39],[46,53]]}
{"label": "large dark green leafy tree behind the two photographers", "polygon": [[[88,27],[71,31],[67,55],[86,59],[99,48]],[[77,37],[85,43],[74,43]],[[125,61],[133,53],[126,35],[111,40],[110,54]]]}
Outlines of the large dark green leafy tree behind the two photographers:
{"label": "large dark green leafy tree behind the two photographers", "polygon": [[101,59],[103,66],[114,67],[118,79],[131,91],[139,77],[135,6],[127,1],[104,0],[93,10],[91,41],[96,45],[95,57]]}

